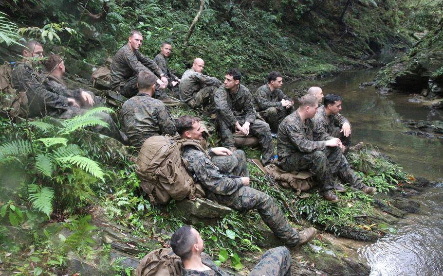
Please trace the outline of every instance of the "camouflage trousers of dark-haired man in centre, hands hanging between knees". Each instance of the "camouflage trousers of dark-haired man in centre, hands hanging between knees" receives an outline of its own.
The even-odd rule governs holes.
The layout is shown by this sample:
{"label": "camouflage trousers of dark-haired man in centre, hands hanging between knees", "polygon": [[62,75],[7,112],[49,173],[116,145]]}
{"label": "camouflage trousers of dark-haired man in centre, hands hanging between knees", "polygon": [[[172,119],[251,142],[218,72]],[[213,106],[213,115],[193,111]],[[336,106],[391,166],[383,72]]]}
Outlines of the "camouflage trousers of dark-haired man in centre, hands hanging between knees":
{"label": "camouflage trousers of dark-haired man in centre, hands hanging between knees", "polygon": [[[239,119],[240,118],[237,118],[239,123],[242,125],[244,120]],[[217,114],[217,125],[220,130],[221,143],[223,147],[234,147],[233,132],[235,131],[235,127],[226,123],[220,114]],[[251,122],[251,125],[249,126],[249,133],[258,138],[258,143],[260,144],[260,149],[263,153],[263,155],[261,155],[261,163],[263,163],[263,165],[269,164],[271,158],[274,157],[274,143],[272,142],[269,124],[256,119],[255,121]]]}

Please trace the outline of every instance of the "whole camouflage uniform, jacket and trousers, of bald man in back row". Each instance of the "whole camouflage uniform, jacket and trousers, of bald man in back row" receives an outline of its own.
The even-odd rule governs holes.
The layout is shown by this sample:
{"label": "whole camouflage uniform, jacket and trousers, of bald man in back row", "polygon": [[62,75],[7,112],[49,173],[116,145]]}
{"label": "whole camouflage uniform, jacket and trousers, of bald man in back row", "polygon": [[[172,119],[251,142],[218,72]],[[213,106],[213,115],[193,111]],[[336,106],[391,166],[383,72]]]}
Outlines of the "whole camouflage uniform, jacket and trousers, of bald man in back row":
{"label": "whole camouflage uniform, jacket and trousers, of bald man in back row", "polygon": [[191,108],[209,107],[214,105],[214,92],[221,86],[221,81],[217,78],[203,75],[187,69],[180,82],[180,100],[184,101]]}

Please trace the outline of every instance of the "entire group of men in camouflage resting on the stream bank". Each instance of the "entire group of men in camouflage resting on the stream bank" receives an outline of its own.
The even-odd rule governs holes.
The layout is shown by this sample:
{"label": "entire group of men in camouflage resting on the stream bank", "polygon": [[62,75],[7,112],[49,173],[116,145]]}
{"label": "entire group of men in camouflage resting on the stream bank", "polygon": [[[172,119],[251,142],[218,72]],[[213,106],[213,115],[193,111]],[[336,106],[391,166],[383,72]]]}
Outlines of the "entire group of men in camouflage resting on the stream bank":
{"label": "entire group of men in camouflage resting on the stream bank", "polygon": [[[183,158],[189,163],[188,173],[202,184],[208,198],[245,211],[257,209],[263,222],[287,247],[304,244],[314,238],[315,228],[296,231],[273,198],[249,187],[246,155],[234,145],[234,133],[258,138],[262,151],[261,162],[269,164],[275,157],[272,132],[277,132],[277,165],[287,172],[314,173],[322,196],[338,202],[335,192],[346,189],[336,184],[339,177],[351,187],[374,194],[375,188],[363,184],[352,171],[344,152],[350,146],[351,125],[339,114],[342,97],[323,96],[320,87],[311,87],[294,101],[279,88],[282,77],[272,71],[268,83],[257,89],[253,96],[241,81],[238,69],[229,69],[224,83],[204,75],[204,61],[196,58],[191,69],[178,78],[168,69],[167,58],[172,46],[162,43],[161,52],[151,60],[139,52],[143,36],[132,31],[128,43],[115,54],[111,64],[112,89],[128,98],[121,109],[123,132],[119,131],[111,116],[100,114],[109,127],[96,131],[129,143],[140,150],[144,141],[156,135],[179,135],[182,139],[202,140],[203,128],[198,118],[182,116],[172,118],[165,104],[174,103],[165,88],[178,86],[180,100],[191,108],[205,108],[216,113],[216,125],[223,147],[202,151],[185,146]],[[12,72],[12,83],[18,91],[25,91],[27,116],[52,116],[70,119],[84,114],[87,108],[104,104],[104,100],[83,89],[69,89],[62,80],[65,73],[63,59],[51,55],[44,62],[46,71],[40,73],[32,60],[43,57],[43,47],[30,41],[23,47],[22,62]],[[324,98],[323,103],[320,104]],[[237,175],[238,178],[226,177]],[[182,258],[184,275],[227,275],[211,260],[202,262],[203,241],[199,233],[185,225],[171,239],[171,247]],[[291,258],[284,247],[270,249],[263,255],[250,275],[290,275]]]}

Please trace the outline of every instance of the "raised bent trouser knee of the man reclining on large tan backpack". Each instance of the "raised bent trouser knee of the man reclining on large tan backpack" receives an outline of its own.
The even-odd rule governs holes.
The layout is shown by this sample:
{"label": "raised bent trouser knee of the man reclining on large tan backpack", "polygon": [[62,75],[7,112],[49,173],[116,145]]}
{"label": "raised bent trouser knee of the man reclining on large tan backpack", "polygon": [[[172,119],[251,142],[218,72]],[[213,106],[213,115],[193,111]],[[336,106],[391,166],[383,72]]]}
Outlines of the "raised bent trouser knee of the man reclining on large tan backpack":
{"label": "raised bent trouser knee of the man reclining on large tan backpack", "polygon": [[246,154],[242,150],[236,150],[232,152],[232,155],[211,156],[211,161],[222,174],[249,177]]}

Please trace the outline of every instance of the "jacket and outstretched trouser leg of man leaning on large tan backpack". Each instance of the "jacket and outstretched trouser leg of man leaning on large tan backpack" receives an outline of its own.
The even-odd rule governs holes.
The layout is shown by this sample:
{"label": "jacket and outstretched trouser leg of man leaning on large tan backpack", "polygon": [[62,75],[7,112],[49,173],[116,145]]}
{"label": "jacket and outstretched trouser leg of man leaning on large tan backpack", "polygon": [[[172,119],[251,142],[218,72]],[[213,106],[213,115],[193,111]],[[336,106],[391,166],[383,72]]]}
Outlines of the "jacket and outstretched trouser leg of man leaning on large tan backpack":
{"label": "jacket and outstretched trouser leg of man leaning on large tan backpack", "polygon": [[[246,164],[242,155],[241,163]],[[239,211],[257,209],[263,222],[287,245],[298,243],[298,233],[291,227],[286,217],[277,207],[273,198],[264,192],[243,186],[241,178],[223,177],[207,153],[193,146],[185,146],[183,158],[188,161],[186,170],[202,184],[208,198]],[[247,167],[245,167],[247,168]]]}

